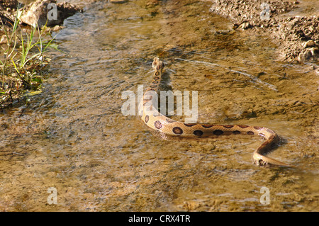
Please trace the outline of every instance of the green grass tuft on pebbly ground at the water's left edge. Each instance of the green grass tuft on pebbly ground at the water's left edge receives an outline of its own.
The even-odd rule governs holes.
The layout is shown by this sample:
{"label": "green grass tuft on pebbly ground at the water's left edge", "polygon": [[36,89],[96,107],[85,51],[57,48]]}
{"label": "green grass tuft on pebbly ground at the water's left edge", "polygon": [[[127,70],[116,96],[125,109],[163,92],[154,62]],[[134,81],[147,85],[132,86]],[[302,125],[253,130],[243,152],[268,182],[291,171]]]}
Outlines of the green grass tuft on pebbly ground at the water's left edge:
{"label": "green grass tuft on pebbly ground at the water's left edge", "polygon": [[[23,13],[23,11],[22,11]],[[3,47],[4,59],[0,60],[0,108],[8,106],[22,96],[38,94],[43,89],[43,79],[50,59],[44,53],[57,49],[46,26],[35,26],[25,31],[20,26],[17,10],[15,21],[8,28],[1,21],[6,36],[6,47]],[[1,20],[1,19],[0,19]],[[2,51],[1,51],[2,52]]]}

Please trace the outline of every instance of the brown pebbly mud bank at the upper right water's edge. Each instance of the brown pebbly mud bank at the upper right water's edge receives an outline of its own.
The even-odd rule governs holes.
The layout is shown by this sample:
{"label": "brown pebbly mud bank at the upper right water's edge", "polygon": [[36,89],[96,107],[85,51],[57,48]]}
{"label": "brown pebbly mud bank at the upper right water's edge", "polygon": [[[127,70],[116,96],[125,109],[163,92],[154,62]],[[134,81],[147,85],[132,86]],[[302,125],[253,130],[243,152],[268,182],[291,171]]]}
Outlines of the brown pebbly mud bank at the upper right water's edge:
{"label": "brown pebbly mud bank at the upper right water's edge", "polygon": [[234,28],[269,33],[278,45],[279,60],[318,62],[318,12],[311,16],[286,16],[298,1],[214,0],[210,11],[230,18]]}

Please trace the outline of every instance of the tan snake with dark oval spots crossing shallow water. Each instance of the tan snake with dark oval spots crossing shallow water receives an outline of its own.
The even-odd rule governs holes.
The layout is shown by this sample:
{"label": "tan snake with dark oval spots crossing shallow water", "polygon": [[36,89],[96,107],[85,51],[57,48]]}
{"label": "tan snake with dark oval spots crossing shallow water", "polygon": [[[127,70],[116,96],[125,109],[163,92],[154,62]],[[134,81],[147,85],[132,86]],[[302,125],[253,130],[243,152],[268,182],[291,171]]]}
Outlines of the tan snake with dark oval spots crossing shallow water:
{"label": "tan snake with dark oval spots crossing shallow water", "polygon": [[[257,166],[290,166],[284,162],[267,157],[280,141],[279,135],[269,128],[250,125],[216,125],[211,123],[184,123],[173,120],[157,111],[153,96],[157,95],[162,80],[164,62],[155,57],[152,62],[154,74],[152,82],[140,100],[141,120],[148,128],[155,130],[161,137],[220,137],[223,135],[257,135],[264,139],[259,147],[252,154],[253,163]],[[156,100],[157,101],[157,100]]]}

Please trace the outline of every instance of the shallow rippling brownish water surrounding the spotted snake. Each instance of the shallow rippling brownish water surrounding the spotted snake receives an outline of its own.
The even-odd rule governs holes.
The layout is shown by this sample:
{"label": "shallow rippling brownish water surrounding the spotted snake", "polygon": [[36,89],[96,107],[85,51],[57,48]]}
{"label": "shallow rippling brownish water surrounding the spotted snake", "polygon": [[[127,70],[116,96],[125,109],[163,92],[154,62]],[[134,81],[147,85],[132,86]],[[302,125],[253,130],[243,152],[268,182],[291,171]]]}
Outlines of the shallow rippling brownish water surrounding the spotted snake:
{"label": "shallow rippling brownish water surrounding the spotted snake", "polygon": [[[43,94],[1,113],[0,210],[318,211],[317,65],[276,61],[270,38],[232,30],[208,2],[147,2],[65,21],[68,55],[52,52]],[[150,83],[155,56],[163,89],[198,91],[198,122],[272,128],[270,156],[296,169],[254,166],[258,137],[161,140],[124,116],[121,94]]]}

